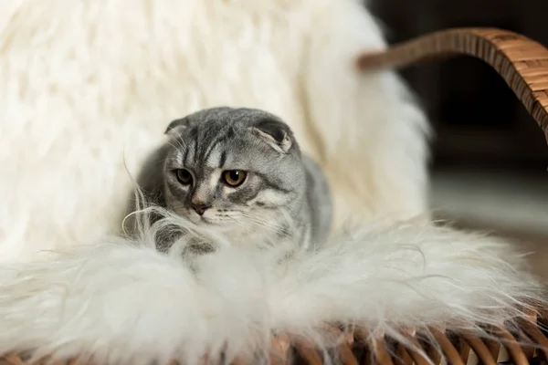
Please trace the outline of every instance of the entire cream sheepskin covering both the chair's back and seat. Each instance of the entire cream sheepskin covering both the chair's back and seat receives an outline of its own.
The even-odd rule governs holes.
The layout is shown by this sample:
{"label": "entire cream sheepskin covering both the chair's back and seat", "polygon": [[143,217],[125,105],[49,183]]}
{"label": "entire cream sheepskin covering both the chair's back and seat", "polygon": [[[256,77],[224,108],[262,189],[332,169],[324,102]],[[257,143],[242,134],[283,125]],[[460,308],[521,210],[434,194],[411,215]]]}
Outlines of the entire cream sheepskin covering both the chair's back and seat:
{"label": "entire cream sheepskin covering both the chair's back and seat", "polygon": [[[543,304],[505,243],[408,220],[427,216],[427,122],[395,73],[354,67],[384,47],[357,0],[2,2],[0,353],[192,364],[265,354],[272,331],[328,347],[326,321],[479,331]],[[189,266],[153,227],[115,235],[166,124],[219,105],[278,114],[321,162],[329,245],[216,237]]]}

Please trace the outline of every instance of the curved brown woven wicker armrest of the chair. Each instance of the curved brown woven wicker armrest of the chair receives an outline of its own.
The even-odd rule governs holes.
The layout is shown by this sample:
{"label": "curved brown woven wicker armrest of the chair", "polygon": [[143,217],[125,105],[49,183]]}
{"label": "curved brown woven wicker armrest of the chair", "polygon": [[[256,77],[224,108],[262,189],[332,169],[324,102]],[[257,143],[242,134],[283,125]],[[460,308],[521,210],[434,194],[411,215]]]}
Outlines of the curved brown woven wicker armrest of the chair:
{"label": "curved brown woven wicker armrest of the chair", "polygon": [[526,36],[501,29],[448,29],[365,53],[358,66],[403,68],[456,55],[478,57],[501,74],[544,131],[548,140],[548,49]]}

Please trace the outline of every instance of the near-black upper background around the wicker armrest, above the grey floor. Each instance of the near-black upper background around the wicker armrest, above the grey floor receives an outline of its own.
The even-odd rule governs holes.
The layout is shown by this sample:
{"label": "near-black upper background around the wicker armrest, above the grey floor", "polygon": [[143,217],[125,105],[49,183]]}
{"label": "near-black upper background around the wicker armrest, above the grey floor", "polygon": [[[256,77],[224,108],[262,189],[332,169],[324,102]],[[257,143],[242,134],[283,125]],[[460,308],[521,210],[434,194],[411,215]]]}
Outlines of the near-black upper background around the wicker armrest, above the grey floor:
{"label": "near-black upper background around the wicker armrest, above the grey floor", "polygon": [[[373,0],[370,8],[391,44],[448,27],[494,26],[548,46],[548,0]],[[543,134],[499,75],[481,61],[459,57],[401,74],[436,128],[435,168],[458,164],[546,171]]]}

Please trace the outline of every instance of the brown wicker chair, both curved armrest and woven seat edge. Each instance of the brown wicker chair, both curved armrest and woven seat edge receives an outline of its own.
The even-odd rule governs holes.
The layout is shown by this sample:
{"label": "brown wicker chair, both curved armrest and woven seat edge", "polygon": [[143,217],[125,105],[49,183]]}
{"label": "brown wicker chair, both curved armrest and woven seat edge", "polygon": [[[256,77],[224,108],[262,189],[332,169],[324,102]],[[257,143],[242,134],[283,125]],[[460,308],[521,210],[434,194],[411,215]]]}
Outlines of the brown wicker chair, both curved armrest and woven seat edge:
{"label": "brown wicker chair, both curved armrest and woven seat edge", "polygon": [[[548,50],[524,36],[499,29],[451,29],[419,37],[382,53],[364,53],[358,57],[357,64],[363,70],[400,68],[418,61],[459,54],[479,57],[495,68],[548,138]],[[519,365],[544,363],[548,360],[548,338],[543,331],[544,325],[548,325],[548,311],[539,309],[531,312],[530,316],[531,321],[523,321],[519,333],[504,327],[490,328],[490,339],[429,328],[429,334],[437,346],[423,341],[424,334],[407,328],[401,334],[415,345],[416,350],[413,351],[395,339],[377,336],[372,340],[372,336],[364,331],[344,330],[336,326],[327,330],[340,339],[337,341],[339,345],[327,351],[314,348],[306,339],[276,335],[272,339],[270,360],[275,364],[322,364],[326,360],[342,364],[383,365],[426,365],[443,361],[454,365],[492,365],[506,361]],[[524,335],[528,339],[527,345],[521,345]],[[24,354],[6,354],[0,358],[0,365],[29,363],[26,359]],[[204,363],[207,362],[204,360]],[[38,363],[47,363],[47,359]],[[80,361],[72,359],[62,363],[76,364]]]}

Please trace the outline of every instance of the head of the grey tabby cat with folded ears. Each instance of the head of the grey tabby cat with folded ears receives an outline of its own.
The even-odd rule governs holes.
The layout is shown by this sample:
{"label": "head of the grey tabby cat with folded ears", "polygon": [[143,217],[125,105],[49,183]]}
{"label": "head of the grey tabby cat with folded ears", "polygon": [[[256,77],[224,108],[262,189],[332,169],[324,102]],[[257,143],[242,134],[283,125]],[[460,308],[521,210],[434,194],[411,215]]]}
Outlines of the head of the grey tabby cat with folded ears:
{"label": "head of the grey tabby cat with folded ears", "polygon": [[274,227],[302,204],[305,172],[290,127],[263,110],[215,108],[174,120],[164,164],[168,207],[195,224]]}

